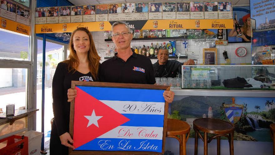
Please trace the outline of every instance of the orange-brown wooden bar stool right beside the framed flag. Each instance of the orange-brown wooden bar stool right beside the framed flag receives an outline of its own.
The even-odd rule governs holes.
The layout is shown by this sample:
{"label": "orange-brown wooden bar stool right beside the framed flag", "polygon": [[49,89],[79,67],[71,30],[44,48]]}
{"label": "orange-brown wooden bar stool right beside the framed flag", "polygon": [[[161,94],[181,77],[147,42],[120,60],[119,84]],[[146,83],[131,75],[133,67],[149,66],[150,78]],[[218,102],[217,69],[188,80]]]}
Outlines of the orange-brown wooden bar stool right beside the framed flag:
{"label": "orange-brown wooden bar stool right beside the framed flag", "polygon": [[189,134],[189,124],[181,120],[168,119],[166,137],[176,138],[178,140],[180,155],[186,155],[186,142],[188,140]]}

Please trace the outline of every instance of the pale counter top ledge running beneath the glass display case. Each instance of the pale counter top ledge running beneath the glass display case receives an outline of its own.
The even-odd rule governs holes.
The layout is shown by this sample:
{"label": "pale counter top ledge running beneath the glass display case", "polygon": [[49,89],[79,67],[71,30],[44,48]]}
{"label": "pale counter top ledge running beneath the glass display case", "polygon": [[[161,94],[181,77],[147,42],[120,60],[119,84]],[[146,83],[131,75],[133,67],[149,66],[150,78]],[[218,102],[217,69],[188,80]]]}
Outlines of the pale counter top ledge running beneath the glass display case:
{"label": "pale counter top ledge running beneath the glass display case", "polygon": [[171,89],[179,96],[275,97],[275,90]]}

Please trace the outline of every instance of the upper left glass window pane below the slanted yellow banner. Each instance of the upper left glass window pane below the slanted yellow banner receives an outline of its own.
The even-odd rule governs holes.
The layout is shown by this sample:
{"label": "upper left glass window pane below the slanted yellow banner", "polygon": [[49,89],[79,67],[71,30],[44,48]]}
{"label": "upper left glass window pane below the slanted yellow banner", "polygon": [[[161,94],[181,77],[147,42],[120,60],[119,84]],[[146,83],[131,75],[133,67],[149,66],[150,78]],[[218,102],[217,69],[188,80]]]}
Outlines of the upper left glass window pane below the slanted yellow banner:
{"label": "upper left glass window pane below the slanted yellow banner", "polygon": [[0,59],[29,61],[29,36],[3,29],[0,36]]}

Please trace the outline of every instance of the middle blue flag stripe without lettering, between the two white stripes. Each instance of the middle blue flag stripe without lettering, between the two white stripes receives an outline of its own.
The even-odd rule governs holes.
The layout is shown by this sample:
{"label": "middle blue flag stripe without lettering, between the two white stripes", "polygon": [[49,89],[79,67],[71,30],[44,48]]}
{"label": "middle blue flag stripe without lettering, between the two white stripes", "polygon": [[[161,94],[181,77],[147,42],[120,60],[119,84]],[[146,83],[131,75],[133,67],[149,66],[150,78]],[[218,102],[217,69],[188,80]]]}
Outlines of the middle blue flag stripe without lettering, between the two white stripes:
{"label": "middle blue flag stripe without lettering, between the two white stripes", "polygon": [[163,127],[163,115],[142,115],[142,114],[122,114],[130,119],[130,121],[121,126],[133,127]]}

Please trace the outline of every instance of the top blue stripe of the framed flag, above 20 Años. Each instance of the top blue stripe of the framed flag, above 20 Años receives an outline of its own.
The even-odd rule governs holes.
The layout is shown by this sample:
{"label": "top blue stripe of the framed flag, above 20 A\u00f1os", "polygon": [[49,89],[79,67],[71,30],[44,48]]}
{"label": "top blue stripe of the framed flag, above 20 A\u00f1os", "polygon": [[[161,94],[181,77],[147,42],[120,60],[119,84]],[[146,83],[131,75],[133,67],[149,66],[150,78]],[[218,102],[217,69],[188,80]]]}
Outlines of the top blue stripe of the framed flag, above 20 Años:
{"label": "top blue stripe of the framed flag, above 20 A\u00f1os", "polygon": [[164,90],[77,86],[98,100],[165,102]]}

